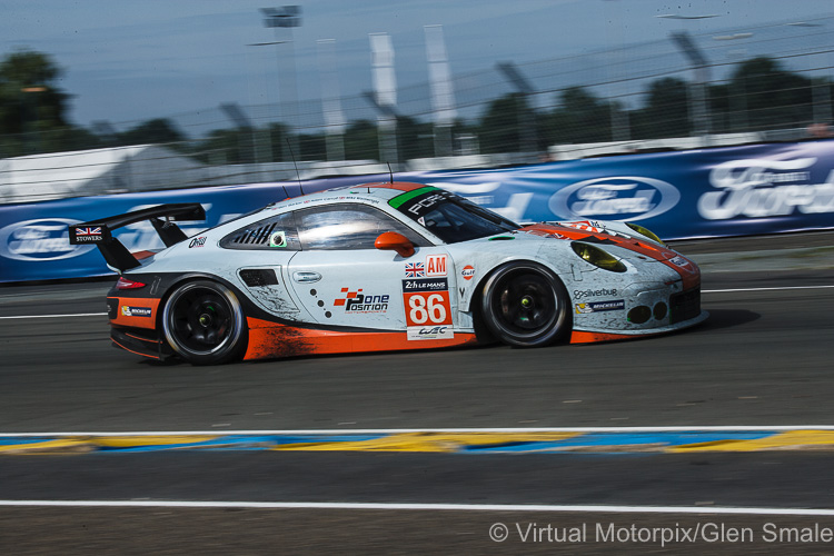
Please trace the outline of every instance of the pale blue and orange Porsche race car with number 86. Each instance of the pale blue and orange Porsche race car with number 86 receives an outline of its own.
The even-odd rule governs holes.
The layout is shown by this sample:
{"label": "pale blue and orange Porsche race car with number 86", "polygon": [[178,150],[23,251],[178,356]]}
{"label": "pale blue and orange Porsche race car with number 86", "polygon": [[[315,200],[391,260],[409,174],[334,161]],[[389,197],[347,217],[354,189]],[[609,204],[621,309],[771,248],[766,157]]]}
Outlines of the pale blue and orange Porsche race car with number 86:
{"label": "pale blue and orange Porsche race car with number 86", "polygon": [[[187,237],[199,203],[69,227],[120,274],[112,342],[195,365],[307,354],[636,338],[707,318],[701,272],[632,222],[520,226],[449,191],[380,182],[275,202]],[[166,248],[112,230],[150,220]]]}

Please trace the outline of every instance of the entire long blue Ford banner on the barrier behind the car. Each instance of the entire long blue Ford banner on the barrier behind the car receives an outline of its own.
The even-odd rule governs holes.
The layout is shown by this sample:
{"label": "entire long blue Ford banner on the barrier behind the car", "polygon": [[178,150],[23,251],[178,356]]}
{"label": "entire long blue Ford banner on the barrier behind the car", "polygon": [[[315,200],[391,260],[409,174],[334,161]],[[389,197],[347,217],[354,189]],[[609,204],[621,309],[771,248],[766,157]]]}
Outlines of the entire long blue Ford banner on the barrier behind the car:
{"label": "entire long blue Ford banner on the barrier behind the car", "polygon": [[[304,183],[305,192],[387,176]],[[398,173],[519,221],[638,221],[664,239],[834,228],[834,140],[656,152],[496,170]],[[299,193],[297,183],[196,188],[0,206],[0,281],[109,274],[67,226],[162,202],[203,205],[187,234]],[[117,230],[130,250],[161,247],[149,222]]]}

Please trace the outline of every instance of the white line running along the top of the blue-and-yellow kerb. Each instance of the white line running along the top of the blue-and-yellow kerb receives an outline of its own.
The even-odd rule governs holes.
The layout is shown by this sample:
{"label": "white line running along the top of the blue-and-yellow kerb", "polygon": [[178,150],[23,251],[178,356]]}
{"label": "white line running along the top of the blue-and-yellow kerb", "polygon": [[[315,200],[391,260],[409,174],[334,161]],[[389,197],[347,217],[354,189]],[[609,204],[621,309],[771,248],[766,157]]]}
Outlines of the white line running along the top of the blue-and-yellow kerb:
{"label": "white line running along the top of the blue-and-yellow kerb", "polygon": [[338,429],[295,429],[295,430],[135,430],[111,433],[2,433],[0,437],[32,438],[32,437],[68,437],[68,436],[302,436],[302,435],[395,435],[408,433],[440,433],[440,434],[529,434],[529,433],[755,433],[755,431],[790,431],[790,430],[834,430],[834,425],[714,425],[685,427],[525,427],[525,428],[338,428]]}

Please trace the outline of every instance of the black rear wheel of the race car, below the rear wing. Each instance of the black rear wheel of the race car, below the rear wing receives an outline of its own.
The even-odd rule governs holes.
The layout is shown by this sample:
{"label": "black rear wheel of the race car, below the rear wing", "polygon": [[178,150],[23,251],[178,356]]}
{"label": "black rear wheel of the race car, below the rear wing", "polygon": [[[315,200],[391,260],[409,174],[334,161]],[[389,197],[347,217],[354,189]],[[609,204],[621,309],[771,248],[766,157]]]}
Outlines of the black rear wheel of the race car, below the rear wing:
{"label": "black rear wheel of the race car, below the rear wing", "polygon": [[218,365],[238,357],[247,344],[246,315],[237,296],[211,280],[182,284],[162,310],[165,339],[192,365]]}

